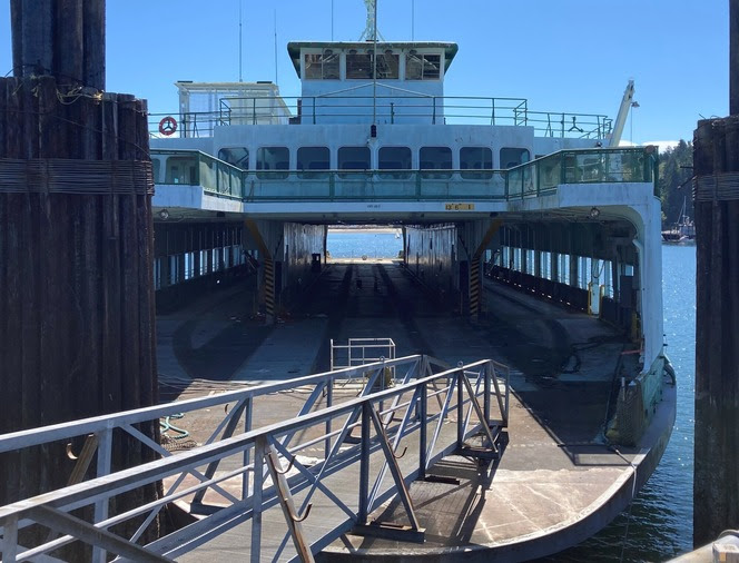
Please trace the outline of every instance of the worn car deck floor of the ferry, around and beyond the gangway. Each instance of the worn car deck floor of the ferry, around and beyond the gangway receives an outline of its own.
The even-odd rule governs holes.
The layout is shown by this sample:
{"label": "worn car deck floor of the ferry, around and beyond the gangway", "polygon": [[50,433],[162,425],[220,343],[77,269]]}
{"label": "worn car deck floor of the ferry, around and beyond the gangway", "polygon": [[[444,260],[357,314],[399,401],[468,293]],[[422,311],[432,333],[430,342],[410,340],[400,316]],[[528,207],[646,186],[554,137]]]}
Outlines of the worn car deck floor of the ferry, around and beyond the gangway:
{"label": "worn car deck floor of the ferry, around and beyond the gangway", "polygon": [[[451,314],[397,264],[336,263],[289,319],[267,328],[247,314],[249,296],[233,287],[159,317],[161,391],[186,397],[324,371],[329,338],[390,337],[398,357],[424,353],[451,365],[483,358],[504,363],[511,367],[512,395],[500,461],[481,472],[475,460],[449,455],[430,471],[445,478],[410,487],[425,542],[344,534],[318,559],[524,561],[555,553],[605,526],[652,473],[672,429],[674,388],[666,386],[635,447],[612,447],[602,436],[614,382],[638,368],[638,354],[625,337],[591,316],[491,280],[485,300],[489,313],[473,323]],[[356,389],[337,389],[334,401],[355,395]],[[299,393],[269,396],[255,405],[254,426],[294,416],[303,399]],[[213,418],[188,414],[178,425],[199,442],[223,414]],[[440,439],[451,444],[455,425],[446,426]],[[304,454],[298,458],[309,462],[309,452]],[[407,457],[400,460],[402,467],[417,465],[417,457]],[[219,470],[228,471],[227,464]],[[331,481],[348,506],[356,506],[356,483],[351,471]],[[221,485],[237,493],[242,483]],[[208,494],[213,497],[206,501],[217,504],[217,495]],[[318,498],[304,523],[311,542],[346,521]],[[373,514],[380,515],[384,522],[405,517],[392,500]],[[264,518],[262,559],[292,559],[279,508],[266,511]],[[230,561],[248,551],[249,541],[250,525],[237,525],[180,560]]]}

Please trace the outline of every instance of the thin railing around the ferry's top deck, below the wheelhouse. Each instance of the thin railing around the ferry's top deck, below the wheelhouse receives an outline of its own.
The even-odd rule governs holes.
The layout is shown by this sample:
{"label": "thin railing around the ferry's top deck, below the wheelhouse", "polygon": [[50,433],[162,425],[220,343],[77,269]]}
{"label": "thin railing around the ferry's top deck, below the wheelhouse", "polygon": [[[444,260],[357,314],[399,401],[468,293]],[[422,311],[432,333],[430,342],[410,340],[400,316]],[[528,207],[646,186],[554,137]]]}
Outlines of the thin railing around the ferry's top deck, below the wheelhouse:
{"label": "thin railing around the ferry's top deck, below the wheelhouse", "polygon": [[502,125],[533,127],[541,137],[604,139],[612,132],[612,120],[599,113],[531,111],[525,98],[476,96],[422,96],[402,91],[393,96],[304,96],[221,98],[216,111],[150,113],[149,131],[159,136],[162,118],[178,122],[174,137],[213,137],[219,126],[238,125]]}

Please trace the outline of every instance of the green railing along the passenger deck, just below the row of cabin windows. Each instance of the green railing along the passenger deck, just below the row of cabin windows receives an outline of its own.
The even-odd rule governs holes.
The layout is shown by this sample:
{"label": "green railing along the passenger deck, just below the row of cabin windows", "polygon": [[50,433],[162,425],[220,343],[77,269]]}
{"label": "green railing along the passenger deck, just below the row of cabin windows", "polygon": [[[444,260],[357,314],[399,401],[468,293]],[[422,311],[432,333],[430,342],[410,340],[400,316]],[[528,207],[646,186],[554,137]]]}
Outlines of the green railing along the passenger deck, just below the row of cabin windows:
{"label": "green railing along the passenger deck, just below the row of cabin windows", "polygon": [[497,200],[539,197],[562,184],[652,182],[654,147],[561,150],[506,170],[242,170],[197,150],[152,149],[155,184],[201,186],[244,201]]}

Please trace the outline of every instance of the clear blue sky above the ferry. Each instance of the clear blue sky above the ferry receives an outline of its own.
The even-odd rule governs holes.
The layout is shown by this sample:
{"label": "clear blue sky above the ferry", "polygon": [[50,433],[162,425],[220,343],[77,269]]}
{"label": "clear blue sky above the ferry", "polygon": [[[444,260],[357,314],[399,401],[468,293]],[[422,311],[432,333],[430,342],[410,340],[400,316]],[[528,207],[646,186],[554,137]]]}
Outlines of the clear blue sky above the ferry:
{"label": "clear blue sky above the ferry", "polygon": [[[332,0],[240,0],[244,80],[299,83],[287,41],[329,40]],[[696,121],[728,113],[729,0],[380,0],[386,40],[450,40],[460,52],[450,96],[528,98],[540,111],[615,117],[637,83],[633,140],[691,139]],[[11,69],[10,8],[0,10],[0,73]],[[334,0],[334,39],[356,40],[362,0]],[[176,80],[238,80],[239,0],[108,0],[108,90],[176,112]],[[624,131],[629,138],[629,125]]]}

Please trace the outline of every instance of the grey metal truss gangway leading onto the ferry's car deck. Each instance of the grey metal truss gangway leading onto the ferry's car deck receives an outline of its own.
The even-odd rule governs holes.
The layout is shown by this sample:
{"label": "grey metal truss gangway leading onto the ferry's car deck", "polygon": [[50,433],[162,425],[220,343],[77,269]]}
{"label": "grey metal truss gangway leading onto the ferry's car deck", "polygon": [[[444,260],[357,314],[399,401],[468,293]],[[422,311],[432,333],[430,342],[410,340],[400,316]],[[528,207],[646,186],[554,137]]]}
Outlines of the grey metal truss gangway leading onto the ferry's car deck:
{"label": "grey metal truss gangway leading onto the ferry's car deck", "polygon": [[[395,384],[382,388],[388,373]],[[352,378],[365,381],[362,391],[338,397],[335,383]],[[263,402],[272,406],[279,393],[306,398],[295,416],[259,426],[255,409]],[[227,414],[218,417],[205,443],[186,452],[170,453],[139,429],[152,428],[176,413],[224,408]],[[0,454],[41,445],[63,453],[72,438],[87,438],[70,478],[73,484],[0,507],[2,561],[53,556],[72,542],[91,545],[96,562],[110,554],[170,561],[208,542],[211,547],[244,524],[250,531],[239,550],[249,551],[252,561],[265,554],[312,561],[314,553],[348,531],[422,541],[424,523],[416,517],[410,484],[426,477],[428,468],[452,452],[476,457],[484,467],[500,455],[508,416],[505,366],[481,360],[449,368],[415,355],[6,434],[0,436]],[[160,458],[111,473],[115,448],[131,439]],[[304,452],[319,452],[321,458],[306,463]],[[96,456],[97,476],[82,481]],[[160,498],[109,514],[111,501],[156,482],[165,485]],[[213,495],[225,504],[208,505]],[[373,512],[392,498],[404,507],[404,525],[373,518]],[[144,544],[147,526],[165,505],[177,501],[199,508],[201,517]],[[126,524],[135,529],[126,536],[110,530]],[[21,546],[19,537],[23,540],[23,529],[31,525],[48,529],[48,535],[35,534],[45,540]]]}

